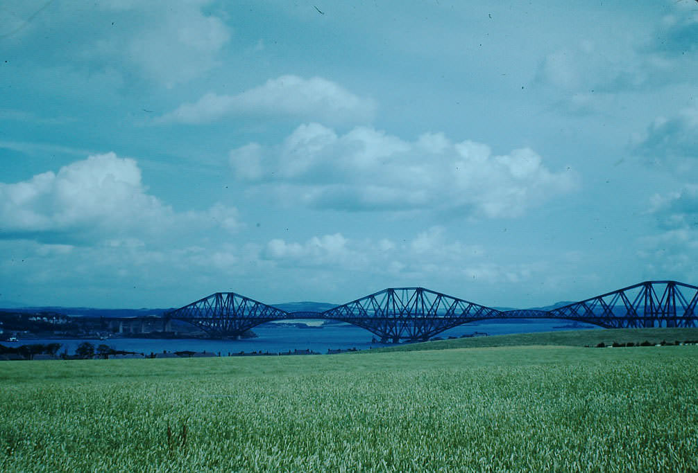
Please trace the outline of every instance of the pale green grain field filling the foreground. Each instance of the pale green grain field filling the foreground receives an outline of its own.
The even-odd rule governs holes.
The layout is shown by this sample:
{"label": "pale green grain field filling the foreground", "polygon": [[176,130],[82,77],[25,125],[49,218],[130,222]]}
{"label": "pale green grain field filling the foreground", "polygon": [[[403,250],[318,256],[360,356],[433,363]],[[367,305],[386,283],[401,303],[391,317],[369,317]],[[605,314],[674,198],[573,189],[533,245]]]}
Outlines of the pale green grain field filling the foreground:
{"label": "pale green grain field filling the foreground", "polygon": [[4,362],[0,380],[1,471],[698,470],[698,346]]}

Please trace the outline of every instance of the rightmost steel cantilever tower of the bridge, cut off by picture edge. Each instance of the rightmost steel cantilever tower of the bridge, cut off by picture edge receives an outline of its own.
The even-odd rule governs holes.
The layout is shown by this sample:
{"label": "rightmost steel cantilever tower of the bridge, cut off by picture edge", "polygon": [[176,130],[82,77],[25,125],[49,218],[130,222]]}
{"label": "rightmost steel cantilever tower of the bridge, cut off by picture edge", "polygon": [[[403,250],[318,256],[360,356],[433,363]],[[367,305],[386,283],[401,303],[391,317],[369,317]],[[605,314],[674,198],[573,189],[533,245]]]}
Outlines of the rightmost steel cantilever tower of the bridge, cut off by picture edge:
{"label": "rightmost steel cantilever tower of the bridge, cut off by picture edge", "polygon": [[645,281],[549,312],[607,328],[697,327],[697,302],[697,286]]}

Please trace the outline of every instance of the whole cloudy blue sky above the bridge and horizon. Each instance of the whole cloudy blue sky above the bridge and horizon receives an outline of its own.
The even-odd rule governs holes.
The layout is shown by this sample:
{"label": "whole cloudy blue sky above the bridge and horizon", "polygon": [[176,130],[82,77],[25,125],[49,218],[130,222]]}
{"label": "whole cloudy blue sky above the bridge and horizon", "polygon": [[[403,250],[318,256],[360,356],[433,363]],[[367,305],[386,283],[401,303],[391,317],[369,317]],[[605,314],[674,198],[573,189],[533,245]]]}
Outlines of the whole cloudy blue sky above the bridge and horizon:
{"label": "whole cloudy blue sky above the bridge and horizon", "polygon": [[698,283],[698,2],[0,4],[0,305]]}

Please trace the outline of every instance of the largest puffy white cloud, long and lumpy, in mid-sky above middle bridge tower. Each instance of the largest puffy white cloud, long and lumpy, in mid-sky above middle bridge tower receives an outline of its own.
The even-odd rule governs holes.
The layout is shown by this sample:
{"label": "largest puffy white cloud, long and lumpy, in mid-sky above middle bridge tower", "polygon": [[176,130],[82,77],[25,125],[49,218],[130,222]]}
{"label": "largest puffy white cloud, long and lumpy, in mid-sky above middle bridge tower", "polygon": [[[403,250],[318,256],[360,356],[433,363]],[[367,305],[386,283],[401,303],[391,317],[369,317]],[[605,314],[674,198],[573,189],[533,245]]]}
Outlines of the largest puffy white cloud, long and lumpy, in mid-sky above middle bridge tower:
{"label": "largest puffy white cloud, long and lumpy, in mid-sky above middle bridge tower", "polygon": [[350,211],[512,217],[575,187],[571,172],[549,171],[529,148],[494,155],[440,133],[410,142],[369,127],[339,135],[317,123],[299,126],[279,146],[232,150],[230,164],[236,178],[283,201]]}

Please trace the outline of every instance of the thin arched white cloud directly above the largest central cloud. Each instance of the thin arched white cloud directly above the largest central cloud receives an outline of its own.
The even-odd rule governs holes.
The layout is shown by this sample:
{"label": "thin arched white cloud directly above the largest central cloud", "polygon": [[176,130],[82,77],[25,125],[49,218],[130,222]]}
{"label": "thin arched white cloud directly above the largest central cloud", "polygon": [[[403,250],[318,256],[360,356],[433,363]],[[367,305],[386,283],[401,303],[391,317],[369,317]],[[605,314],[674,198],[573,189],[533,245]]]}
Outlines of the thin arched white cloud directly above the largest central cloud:
{"label": "thin arched white cloud directly above the largest central cloud", "polygon": [[160,118],[161,123],[206,123],[228,115],[289,115],[329,123],[370,121],[376,104],[322,77],[284,75],[237,95],[207,93]]}

